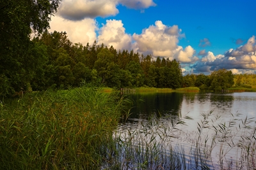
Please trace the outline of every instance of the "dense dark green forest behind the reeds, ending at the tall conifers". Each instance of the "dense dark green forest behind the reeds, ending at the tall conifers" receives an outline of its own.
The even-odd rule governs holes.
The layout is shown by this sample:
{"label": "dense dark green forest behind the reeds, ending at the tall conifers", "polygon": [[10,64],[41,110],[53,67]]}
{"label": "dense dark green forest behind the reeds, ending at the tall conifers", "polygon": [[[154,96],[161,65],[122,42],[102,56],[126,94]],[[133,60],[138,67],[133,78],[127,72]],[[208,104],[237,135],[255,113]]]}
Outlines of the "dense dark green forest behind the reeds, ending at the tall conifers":
{"label": "dense dark green forest behind the reeds, ending at the tall conifers", "polygon": [[[2,64],[0,96],[14,92],[65,89],[82,81],[100,82],[107,87],[166,87],[182,84],[182,71],[176,60],[152,60],[132,50],[117,51],[113,46],[72,44],[65,32],[44,32],[28,44],[13,63]],[[15,60],[14,60],[15,59]]]}

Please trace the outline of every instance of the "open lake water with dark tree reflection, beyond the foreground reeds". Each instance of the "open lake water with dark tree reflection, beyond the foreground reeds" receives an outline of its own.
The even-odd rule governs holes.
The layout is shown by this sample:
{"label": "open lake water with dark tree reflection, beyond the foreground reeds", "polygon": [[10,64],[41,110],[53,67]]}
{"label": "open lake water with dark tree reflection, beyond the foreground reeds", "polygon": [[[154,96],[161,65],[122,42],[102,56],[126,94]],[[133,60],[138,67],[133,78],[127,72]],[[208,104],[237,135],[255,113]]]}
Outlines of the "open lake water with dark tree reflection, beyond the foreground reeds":
{"label": "open lake water with dark tree reflection, beyond the foreground reeds", "polygon": [[[138,93],[129,94],[129,97],[134,101],[134,106],[129,118],[118,125],[118,131],[121,133],[143,129],[143,124],[147,124],[154,118],[161,123],[153,124],[150,128],[158,129],[154,133],[164,131],[167,138],[169,136],[165,141],[172,143],[172,146],[179,145],[184,148],[188,161],[191,147],[194,147],[198,141],[202,147],[203,145],[205,148],[212,146],[211,169],[224,169],[224,167],[248,169],[248,166],[254,168],[252,166],[255,166],[254,149],[256,147],[248,144],[248,139],[244,138],[250,138],[250,142],[255,144],[256,136],[252,136],[252,129],[245,129],[243,125],[255,127],[256,93]],[[202,114],[207,115],[210,111],[213,112],[204,121]],[[184,121],[185,125],[176,125],[175,128],[180,130],[177,131],[173,129],[173,122],[175,124],[179,120]],[[154,127],[158,125],[164,127]],[[198,128],[203,126],[205,128],[199,134]],[[218,134],[216,134],[217,130]],[[162,138],[161,135],[158,138]],[[214,145],[212,145],[212,138],[215,138]],[[223,142],[224,138],[225,142]],[[244,148],[241,147],[245,144],[250,145],[252,153],[250,165],[247,164],[247,166],[241,160],[244,155],[246,157]],[[222,164],[220,158],[225,163]]]}

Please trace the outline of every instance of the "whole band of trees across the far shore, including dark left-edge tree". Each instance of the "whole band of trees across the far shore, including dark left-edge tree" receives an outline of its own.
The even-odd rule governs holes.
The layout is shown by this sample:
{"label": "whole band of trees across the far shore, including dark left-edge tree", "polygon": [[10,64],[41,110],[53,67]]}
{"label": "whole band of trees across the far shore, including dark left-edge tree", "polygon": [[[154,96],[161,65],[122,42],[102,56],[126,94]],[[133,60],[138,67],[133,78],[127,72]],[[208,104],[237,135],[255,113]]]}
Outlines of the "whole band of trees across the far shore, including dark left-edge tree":
{"label": "whole band of trees across the far shore, including dark left-edge tree", "polygon": [[210,75],[184,76],[175,59],[116,50],[97,41],[86,46],[72,43],[66,32],[47,31],[60,0],[29,2],[1,1],[0,96],[79,87],[82,82],[115,89],[200,87],[214,91],[256,85],[254,74],[234,75],[221,69]]}

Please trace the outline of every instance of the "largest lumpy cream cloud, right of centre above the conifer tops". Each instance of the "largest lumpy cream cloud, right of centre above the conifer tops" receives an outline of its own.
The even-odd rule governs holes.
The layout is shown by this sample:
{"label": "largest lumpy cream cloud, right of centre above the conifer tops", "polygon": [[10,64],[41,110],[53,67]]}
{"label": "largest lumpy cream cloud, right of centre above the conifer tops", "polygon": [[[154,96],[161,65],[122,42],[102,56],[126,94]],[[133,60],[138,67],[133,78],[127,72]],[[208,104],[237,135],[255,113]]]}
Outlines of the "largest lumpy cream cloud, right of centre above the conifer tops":
{"label": "largest lumpy cream cloud, right of centre above the conifer tops", "polygon": [[136,50],[140,53],[151,53],[154,57],[168,57],[170,60],[177,59],[183,63],[193,63],[198,60],[195,50],[191,46],[178,46],[179,38],[184,38],[181,29],[177,25],[168,27],[160,20],[155,25],[150,25],[141,34],[133,34]]}

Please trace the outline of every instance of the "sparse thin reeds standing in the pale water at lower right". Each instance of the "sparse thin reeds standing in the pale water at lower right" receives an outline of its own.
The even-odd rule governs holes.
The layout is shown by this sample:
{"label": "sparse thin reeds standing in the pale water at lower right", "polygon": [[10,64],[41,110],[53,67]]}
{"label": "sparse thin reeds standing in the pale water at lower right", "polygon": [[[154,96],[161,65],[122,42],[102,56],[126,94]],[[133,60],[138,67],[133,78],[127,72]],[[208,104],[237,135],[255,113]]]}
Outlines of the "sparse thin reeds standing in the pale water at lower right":
{"label": "sparse thin reeds standing in the pale water at lower right", "polygon": [[[120,125],[106,169],[256,169],[253,118],[202,113],[196,132],[182,131],[189,117],[152,118],[136,129]],[[126,129],[126,131],[125,131]],[[113,152],[115,151],[115,152]],[[231,155],[231,156],[230,156]],[[102,168],[102,169],[104,169]]]}

